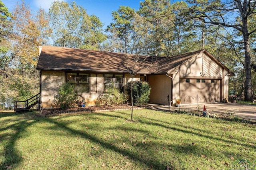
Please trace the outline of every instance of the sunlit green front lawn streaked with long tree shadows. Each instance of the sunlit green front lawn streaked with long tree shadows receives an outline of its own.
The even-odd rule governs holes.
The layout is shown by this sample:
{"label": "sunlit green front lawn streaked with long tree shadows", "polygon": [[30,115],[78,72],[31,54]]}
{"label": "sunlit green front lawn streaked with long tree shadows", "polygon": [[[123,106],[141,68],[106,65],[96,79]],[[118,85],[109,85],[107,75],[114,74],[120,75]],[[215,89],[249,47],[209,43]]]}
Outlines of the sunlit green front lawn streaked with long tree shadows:
{"label": "sunlit green front lawn streaked with long tree shadows", "polygon": [[0,113],[0,169],[228,169],[255,162],[255,125],[135,110],[40,118]]}

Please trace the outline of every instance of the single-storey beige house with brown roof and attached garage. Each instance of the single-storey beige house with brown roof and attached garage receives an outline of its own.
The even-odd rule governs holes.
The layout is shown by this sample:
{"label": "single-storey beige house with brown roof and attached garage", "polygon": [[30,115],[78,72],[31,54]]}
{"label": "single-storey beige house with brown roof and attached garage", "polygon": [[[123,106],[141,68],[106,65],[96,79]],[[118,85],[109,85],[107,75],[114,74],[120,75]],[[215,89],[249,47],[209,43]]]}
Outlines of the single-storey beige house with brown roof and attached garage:
{"label": "single-storey beige house with brown roof and attached garage", "polygon": [[205,49],[162,58],[43,46],[36,69],[43,108],[52,107],[54,94],[65,82],[94,105],[110,83],[121,89],[131,81],[131,71],[134,80],[149,82],[151,103],[168,105],[167,96],[172,105],[178,97],[182,104],[221,102],[228,100],[228,76],[234,75]]}

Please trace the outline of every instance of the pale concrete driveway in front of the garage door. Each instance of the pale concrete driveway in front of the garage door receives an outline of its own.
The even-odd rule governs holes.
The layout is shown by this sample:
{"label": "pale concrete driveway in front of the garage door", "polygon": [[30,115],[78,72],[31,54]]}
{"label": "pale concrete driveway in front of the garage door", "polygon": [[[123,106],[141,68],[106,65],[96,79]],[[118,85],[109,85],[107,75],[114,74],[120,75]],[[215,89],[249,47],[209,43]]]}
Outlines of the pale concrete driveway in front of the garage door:
{"label": "pale concrete driveway in front of the garage door", "polygon": [[[154,106],[156,109],[169,110],[168,105],[148,104]],[[209,113],[228,115],[233,113],[234,116],[242,117],[247,120],[256,121],[256,105],[249,104],[233,104],[233,103],[212,103],[212,104],[199,104],[199,111],[203,112],[204,106]],[[174,111],[179,107],[170,106],[170,110]],[[180,109],[188,111],[196,111],[196,105],[181,105]]]}

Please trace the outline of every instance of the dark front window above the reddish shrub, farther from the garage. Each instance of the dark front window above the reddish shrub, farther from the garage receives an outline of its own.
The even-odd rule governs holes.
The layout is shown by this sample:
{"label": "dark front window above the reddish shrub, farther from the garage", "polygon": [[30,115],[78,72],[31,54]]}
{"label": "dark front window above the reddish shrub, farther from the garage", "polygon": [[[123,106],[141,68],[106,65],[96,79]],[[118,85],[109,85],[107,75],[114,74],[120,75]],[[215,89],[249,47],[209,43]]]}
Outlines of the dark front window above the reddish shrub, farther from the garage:
{"label": "dark front window above the reddish shrub, farther from the garage", "polygon": [[89,93],[90,83],[89,74],[84,73],[67,73],[67,82],[74,85],[74,90],[76,93]]}

